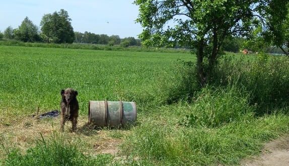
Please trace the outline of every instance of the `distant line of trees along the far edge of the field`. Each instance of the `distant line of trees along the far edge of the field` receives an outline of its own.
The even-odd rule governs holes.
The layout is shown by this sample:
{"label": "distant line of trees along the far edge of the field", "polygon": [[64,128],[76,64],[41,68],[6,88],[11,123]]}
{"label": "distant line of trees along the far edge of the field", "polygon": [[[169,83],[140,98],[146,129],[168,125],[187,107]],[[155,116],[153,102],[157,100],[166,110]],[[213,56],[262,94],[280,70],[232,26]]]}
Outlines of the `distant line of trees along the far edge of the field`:
{"label": "distant line of trees along the far edge of the field", "polygon": [[[88,47],[84,47],[82,45],[77,46],[79,48],[92,48],[96,50],[103,48],[107,50],[109,47],[112,48],[113,46],[117,46],[117,50],[120,47],[127,48],[131,46],[141,46],[141,41],[139,39],[135,39],[134,37],[120,39],[118,35],[108,36],[105,34],[98,35],[91,32],[74,32],[74,29],[71,26],[71,19],[69,18],[68,13],[63,9],[52,14],[45,14],[40,22],[40,29],[31,20],[29,20],[28,17],[26,17],[18,28],[14,29],[9,26],[4,31],[4,33],[0,32],[0,40],[3,39],[6,41],[17,40],[25,43],[64,43],[65,45],[76,43],[107,46],[107,48],[94,45],[90,45]],[[14,42],[7,43],[7,45],[11,45],[12,43]],[[2,43],[2,45],[4,44]],[[196,50],[194,49],[194,46],[180,46],[178,42],[175,43],[175,46],[166,48],[185,49],[192,51]],[[148,49],[149,48],[143,48],[141,50]],[[274,54],[282,53],[280,49],[272,48],[270,45],[267,45],[264,42],[250,41],[242,37],[229,37],[225,39],[221,49],[223,51],[235,53],[243,49],[247,49],[252,52],[261,51]]]}

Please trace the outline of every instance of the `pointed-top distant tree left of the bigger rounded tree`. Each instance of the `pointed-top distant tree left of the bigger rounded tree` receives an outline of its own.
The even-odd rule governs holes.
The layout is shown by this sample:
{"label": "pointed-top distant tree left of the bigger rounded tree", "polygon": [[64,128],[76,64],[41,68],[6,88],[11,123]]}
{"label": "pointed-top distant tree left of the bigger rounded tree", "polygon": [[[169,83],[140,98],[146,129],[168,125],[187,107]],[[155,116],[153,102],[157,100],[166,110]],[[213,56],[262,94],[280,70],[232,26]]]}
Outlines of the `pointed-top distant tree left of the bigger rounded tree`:
{"label": "pointed-top distant tree left of the bigger rounded tree", "polygon": [[26,17],[19,28],[15,30],[15,37],[23,42],[39,41],[38,28]]}

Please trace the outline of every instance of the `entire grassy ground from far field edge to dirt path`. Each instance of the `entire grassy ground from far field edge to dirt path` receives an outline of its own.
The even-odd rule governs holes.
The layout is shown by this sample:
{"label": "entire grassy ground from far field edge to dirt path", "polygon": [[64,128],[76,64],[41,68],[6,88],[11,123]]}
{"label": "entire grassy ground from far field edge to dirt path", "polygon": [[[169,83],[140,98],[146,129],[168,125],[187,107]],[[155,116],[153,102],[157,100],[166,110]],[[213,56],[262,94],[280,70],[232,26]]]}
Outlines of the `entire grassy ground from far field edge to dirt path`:
{"label": "entire grassy ground from far field edge to dirt path", "polygon": [[[0,46],[0,165],[238,164],[288,133],[289,63],[226,57],[200,89],[187,53]],[[79,92],[76,134],[31,117],[59,109],[67,87]],[[135,101],[137,125],[86,127],[88,101],[104,99]]]}

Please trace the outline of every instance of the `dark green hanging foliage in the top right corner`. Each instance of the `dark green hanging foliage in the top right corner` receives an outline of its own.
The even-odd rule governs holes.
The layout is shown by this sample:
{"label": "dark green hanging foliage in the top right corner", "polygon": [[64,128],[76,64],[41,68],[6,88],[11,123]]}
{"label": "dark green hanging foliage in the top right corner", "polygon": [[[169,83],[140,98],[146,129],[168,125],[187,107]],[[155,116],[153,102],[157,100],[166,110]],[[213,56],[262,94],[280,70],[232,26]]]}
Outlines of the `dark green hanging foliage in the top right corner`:
{"label": "dark green hanging foliage in the top right corner", "polygon": [[[258,12],[253,21],[255,30],[251,34],[251,44],[272,45],[289,51],[289,2],[286,0],[260,1],[255,8]],[[257,22],[256,22],[257,21]]]}

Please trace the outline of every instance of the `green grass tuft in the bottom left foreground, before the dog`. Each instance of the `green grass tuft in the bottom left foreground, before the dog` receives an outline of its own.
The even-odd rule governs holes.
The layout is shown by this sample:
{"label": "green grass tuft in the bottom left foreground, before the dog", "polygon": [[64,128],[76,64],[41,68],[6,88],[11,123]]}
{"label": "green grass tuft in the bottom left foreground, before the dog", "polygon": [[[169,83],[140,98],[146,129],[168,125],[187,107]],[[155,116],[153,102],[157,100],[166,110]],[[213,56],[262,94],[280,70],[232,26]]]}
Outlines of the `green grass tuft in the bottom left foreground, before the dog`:
{"label": "green grass tuft in the bottom left foreground, before the dog", "polygon": [[5,165],[106,165],[112,162],[112,155],[84,155],[77,143],[53,135],[49,139],[40,139],[35,147],[28,148],[26,153],[19,149],[7,149]]}

